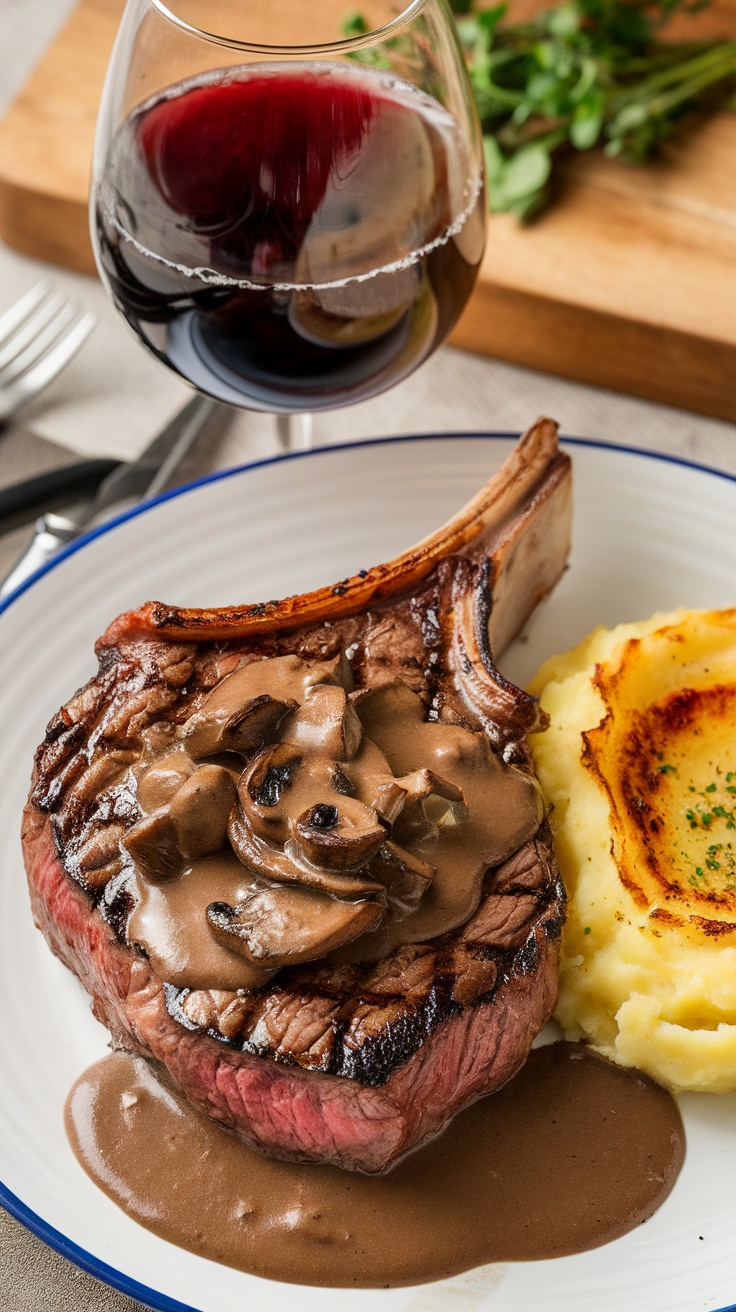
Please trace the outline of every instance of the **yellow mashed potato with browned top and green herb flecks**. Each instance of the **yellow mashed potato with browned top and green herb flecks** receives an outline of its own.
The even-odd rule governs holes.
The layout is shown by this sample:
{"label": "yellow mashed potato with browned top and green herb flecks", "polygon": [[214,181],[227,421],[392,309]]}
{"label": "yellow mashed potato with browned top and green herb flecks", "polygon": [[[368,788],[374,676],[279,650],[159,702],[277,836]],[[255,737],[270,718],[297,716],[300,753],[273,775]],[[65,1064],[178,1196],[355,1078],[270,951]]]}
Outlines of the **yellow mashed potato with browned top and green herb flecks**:
{"label": "yellow mashed potato with browned top and green herb flecks", "polygon": [[736,610],[600,628],[531,691],[563,1030],[676,1089],[736,1089]]}

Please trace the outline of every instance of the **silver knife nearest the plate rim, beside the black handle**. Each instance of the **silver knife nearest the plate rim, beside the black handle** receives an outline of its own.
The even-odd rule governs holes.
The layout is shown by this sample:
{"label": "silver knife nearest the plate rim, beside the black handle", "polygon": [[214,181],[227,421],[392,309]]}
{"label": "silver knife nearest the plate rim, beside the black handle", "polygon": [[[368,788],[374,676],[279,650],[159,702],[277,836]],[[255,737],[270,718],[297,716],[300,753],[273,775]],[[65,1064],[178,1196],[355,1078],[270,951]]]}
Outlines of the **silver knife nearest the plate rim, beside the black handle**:
{"label": "silver knife nearest the plate rim, beside the black handle", "polygon": [[77,500],[58,512],[42,514],[35,521],[35,533],[29,546],[0,585],[0,601],[9,597],[62,547],[81,537],[105,512],[127,501],[140,501],[144,497],[156,496],[165,487],[195,437],[218,412],[227,413],[227,409],[209,396],[194,396],[156,434],[136,461],[123,462],[108,474],[93,497]]}

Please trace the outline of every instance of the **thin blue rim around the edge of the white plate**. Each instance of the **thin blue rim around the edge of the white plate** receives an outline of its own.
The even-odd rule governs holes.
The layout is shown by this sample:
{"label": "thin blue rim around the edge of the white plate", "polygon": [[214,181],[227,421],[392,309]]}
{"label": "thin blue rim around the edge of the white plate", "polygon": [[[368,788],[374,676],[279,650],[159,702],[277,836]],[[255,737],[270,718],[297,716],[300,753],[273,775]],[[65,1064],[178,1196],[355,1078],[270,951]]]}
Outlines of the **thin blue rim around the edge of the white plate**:
{"label": "thin blue rim around the edge of the white plate", "polygon": [[[75,542],[71,542],[67,547],[59,551],[52,560],[49,560],[45,565],[35,571],[29,579],[26,579],[18,588],[16,588],[8,597],[0,601],[0,615],[13,605],[24,593],[34,586],[45,575],[55,569],[63,560],[68,556],[76,555],[77,551],[84,550],[91,542],[97,538],[112,533],[122,523],[127,523],[129,520],[135,520],[138,516],[147,514],[155,506],[161,505],[164,501],[171,501],[180,496],[186,496],[189,492],[194,492],[197,488],[206,487],[210,483],[219,483],[224,479],[235,478],[240,474],[248,474],[255,470],[261,470],[269,464],[282,464],[291,461],[311,459],[315,457],[331,455],[332,453],[341,453],[357,449],[365,449],[369,446],[388,446],[396,445],[399,442],[437,442],[453,438],[472,438],[472,440],[485,440],[493,441],[514,441],[518,440],[520,433],[514,430],[457,430],[449,433],[403,433],[394,437],[370,437],[362,438],[357,442],[336,442],[329,446],[317,446],[307,451],[285,451],[278,455],[265,457],[260,461],[247,461],[243,464],[235,464],[226,470],[216,470],[213,474],[205,474],[202,478],[193,479],[189,483],[182,483],[168,492],[161,492],[156,497],[140,501],[138,505],[131,506],[122,514],[108,520],[105,523],[96,529],[91,529],[88,533],[83,534]],[[719,470],[715,466],[702,464],[698,461],[682,459],[677,455],[669,455],[666,451],[656,451],[648,447],[627,446],[619,442],[603,442],[596,438],[585,437],[560,437],[560,443],[563,446],[572,447],[586,447],[590,450],[602,451],[618,451],[622,455],[635,455],[644,459],[661,461],[665,464],[677,464],[682,468],[695,470],[699,474],[710,474],[715,478],[723,479],[727,483],[736,483],[736,475],[728,474],[724,470]],[[62,1257],[73,1262],[75,1266],[81,1267],[81,1270],[88,1271],[89,1275],[96,1277],[112,1288],[118,1290],[121,1294],[129,1298],[138,1299],[139,1303],[144,1303],[147,1307],[152,1308],[153,1312],[201,1312],[201,1309],[194,1308],[188,1303],[178,1303],[176,1299],[171,1299],[167,1294],[160,1294],[157,1290],[151,1290],[146,1284],[140,1284],[133,1277],[125,1275],[115,1267],[109,1266],[101,1258],[94,1257],[88,1253],[87,1249],[80,1248],[72,1240],[62,1235],[60,1231],[55,1229],[47,1221],[43,1220],[37,1212],[33,1211],[26,1203],[24,1203],[17,1194],[12,1193],[0,1181],[0,1204],[8,1211],[17,1221],[26,1227],[33,1235],[41,1239]],[[714,1308],[712,1312],[736,1312],[736,1303],[731,1303],[728,1307]]]}

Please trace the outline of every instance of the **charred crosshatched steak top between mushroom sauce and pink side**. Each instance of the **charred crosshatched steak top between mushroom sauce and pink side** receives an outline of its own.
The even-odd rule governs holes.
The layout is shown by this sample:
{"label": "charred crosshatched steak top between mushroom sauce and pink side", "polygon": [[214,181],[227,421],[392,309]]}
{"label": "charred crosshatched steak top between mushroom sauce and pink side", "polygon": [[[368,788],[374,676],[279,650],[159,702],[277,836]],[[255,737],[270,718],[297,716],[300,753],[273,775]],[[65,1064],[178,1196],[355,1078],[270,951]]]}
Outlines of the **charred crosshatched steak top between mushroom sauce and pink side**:
{"label": "charred crosshatched steak top between mushroom sauce and pink side", "polygon": [[[559,937],[564,895],[547,829],[491,871],[475,916],[378,963],[283,971],[260,993],[167,988],[168,1010],[245,1052],[382,1085],[438,1026],[538,964],[535,932]],[[521,951],[520,951],[521,950]]]}

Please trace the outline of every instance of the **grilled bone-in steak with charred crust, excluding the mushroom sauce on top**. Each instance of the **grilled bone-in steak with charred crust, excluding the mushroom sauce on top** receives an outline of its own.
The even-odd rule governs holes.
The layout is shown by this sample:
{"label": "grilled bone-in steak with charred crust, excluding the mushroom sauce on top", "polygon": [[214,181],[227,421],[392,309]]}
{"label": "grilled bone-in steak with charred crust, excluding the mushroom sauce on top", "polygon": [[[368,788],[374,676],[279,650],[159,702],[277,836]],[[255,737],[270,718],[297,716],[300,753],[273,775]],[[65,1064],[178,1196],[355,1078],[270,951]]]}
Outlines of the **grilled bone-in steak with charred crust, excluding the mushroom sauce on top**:
{"label": "grilled bone-in steak with charred crust, excluding the mushroom sauce on top", "polygon": [[49,726],[24,824],[37,924],[115,1043],[276,1156],[386,1169],[518,1069],[556,996],[548,830],[489,871],[475,914],[441,938],[283,970],[257,993],[176,989],[125,938],[119,837],[140,815],[126,770],[142,735],[186,720],[244,663],[342,651],[358,689],[405,682],[428,719],[483,728],[531,769],[537,705],[499,674],[488,634],[502,646],[554,585],[568,521],[569,462],[541,421],[467,512],[390,565],[282,604],[121,617],[98,674]]}

